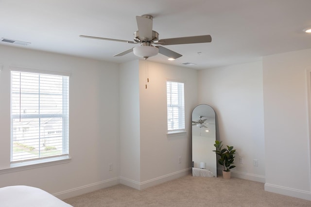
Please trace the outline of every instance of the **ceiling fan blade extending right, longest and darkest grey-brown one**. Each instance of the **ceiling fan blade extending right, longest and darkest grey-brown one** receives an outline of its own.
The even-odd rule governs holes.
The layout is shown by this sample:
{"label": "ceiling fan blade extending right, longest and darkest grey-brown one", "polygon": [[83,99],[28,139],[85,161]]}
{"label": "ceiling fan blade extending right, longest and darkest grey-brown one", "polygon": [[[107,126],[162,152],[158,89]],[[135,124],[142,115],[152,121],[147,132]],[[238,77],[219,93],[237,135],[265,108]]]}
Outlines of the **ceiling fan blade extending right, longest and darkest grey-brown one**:
{"label": "ceiling fan blade extending right, longest and darkest grey-brown one", "polygon": [[170,39],[161,39],[157,43],[158,45],[181,45],[181,44],[193,44],[193,43],[208,43],[212,41],[210,35],[190,36],[190,37],[176,37]]}

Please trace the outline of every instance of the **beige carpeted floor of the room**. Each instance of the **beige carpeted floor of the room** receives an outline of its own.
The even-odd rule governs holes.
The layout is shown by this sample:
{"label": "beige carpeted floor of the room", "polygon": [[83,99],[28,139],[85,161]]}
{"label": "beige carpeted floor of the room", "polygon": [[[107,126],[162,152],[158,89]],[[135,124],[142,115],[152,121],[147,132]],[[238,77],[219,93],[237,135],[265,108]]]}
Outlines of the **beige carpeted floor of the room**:
{"label": "beige carpeted floor of the room", "polygon": [[264,191],[263,183],[191,175],[141,191],[116,185],[64,201],[74,207],[311,207],[311,201]]}

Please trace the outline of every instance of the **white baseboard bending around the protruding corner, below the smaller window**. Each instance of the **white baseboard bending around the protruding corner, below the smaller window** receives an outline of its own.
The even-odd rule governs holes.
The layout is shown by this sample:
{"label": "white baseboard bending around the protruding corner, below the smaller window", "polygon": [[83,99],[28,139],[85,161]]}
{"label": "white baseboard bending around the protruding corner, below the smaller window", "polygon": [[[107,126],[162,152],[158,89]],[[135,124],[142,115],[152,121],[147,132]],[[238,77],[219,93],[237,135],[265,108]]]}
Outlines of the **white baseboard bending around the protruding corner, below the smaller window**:
{"label": "white baseboard bending around the protruding corner, below the smaller window", "polygon": [[149,187],[152,187],[152,186],[155,186],[155,185],[158,185],[158,184],[161,184],[161,183],[173,180],[173,179],[177,179],[185,175],[189,175],[191,173],[191,169],[192,168],[187,168],[185,170],[181,170],[181,171],[177,171],[177,172],[174,172],[168,175],[156,177],[154,179],[147,180],[141,183],[136,182],[134,180],[127,179],[125,177],[121,177],[121,184],[129,186],[131,188],[135,188],[137,190],[143,190],[143,189],[146,189],[146,188],[149,188]]}

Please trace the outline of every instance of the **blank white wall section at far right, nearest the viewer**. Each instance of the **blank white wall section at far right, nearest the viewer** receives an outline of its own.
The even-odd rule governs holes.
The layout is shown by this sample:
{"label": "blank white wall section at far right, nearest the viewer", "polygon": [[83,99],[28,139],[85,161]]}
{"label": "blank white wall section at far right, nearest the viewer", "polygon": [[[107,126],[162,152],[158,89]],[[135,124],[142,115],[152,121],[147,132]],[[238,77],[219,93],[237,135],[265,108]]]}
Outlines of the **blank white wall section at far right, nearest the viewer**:
{"label": "blank white wall section at far right, nearest the viewer", "polygon": [[311,49],[263,58],[265,190],[311,200],[306,70]]}

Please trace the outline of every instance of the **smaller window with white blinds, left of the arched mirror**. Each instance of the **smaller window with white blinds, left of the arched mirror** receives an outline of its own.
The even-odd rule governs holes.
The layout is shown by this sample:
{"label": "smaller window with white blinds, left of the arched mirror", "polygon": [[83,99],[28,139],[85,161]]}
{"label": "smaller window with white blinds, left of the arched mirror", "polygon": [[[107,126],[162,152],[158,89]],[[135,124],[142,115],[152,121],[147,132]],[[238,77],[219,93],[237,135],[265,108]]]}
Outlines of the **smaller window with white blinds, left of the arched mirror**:
{"label": "smaller window with white blinds, left of the arched mirror", "polygon": [[185,130],[184,83],[166,82],[168,132]]}

